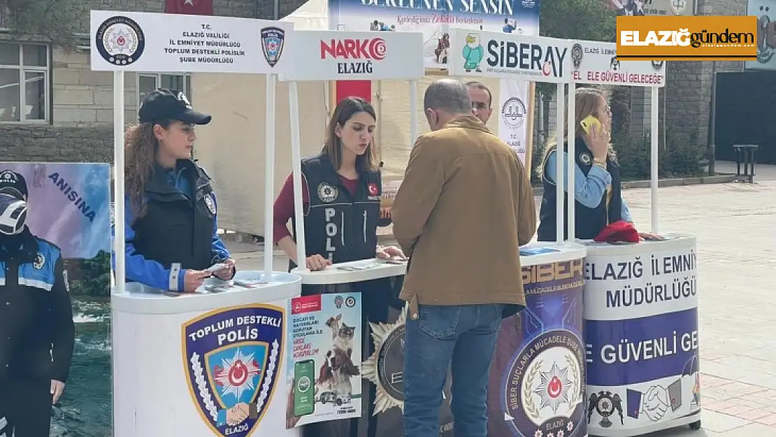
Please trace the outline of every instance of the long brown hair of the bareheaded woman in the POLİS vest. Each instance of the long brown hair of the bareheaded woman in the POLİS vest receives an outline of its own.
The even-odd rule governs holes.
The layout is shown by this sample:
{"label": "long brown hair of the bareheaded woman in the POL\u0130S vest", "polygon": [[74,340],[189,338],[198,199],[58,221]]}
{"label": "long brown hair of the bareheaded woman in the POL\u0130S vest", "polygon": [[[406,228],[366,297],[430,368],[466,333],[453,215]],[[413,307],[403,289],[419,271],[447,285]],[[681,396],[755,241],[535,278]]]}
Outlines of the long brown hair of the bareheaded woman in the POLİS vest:
{"label": "long brown hair of the bareheaded woman in the POL\u0130S vest", "polygon": [[[368,113],[372,118],[377,120],[375,115],[375,109],[372,105],[361,97],[346,97],[342,99],[337,108],[334,109],[334,114],[329,120],[329,124],[326,127],[326,139],[324,140],[324,148],[320,151],[321,154],[327,154],[331,165],[334,170],[339,170],[342,166],[342,141],[337,136],[337,127],[344,128],[345,123],[352,119],[357,113]],[[366,151],[363,154],[355,157],[355,169],[359,172],[374,172],[377,170],[377,154],[375,151],[375,139],[369,141],[369,145],[366,146]]]}

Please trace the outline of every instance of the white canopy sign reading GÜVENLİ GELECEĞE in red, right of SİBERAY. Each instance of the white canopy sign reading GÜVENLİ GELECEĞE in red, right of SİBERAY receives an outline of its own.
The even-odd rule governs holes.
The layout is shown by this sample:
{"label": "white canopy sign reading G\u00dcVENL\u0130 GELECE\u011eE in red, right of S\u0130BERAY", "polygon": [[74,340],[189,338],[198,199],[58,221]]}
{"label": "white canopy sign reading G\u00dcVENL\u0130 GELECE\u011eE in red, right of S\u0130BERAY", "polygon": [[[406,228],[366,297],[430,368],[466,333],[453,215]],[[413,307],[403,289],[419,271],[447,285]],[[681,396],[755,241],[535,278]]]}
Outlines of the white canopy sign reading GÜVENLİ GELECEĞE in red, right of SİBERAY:
{"label": "white canopy sign reading G\u00dcVENL\u0130 GELECE\u011eE in red, right of S\u0130BERAY", "polygon": [[618,61],[617,44],[570,40],[572,81],[580,84],[666,85],[663,61]]}

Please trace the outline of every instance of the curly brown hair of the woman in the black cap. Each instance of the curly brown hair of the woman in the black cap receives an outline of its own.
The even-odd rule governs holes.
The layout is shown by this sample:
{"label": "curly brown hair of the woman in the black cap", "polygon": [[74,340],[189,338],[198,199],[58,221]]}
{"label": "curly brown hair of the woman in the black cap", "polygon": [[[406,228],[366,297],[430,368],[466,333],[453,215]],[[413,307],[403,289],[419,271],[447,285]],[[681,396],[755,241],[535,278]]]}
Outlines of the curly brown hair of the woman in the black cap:
{"label": "curly brown hair of the woman in the black cap", "polygon": [[159,150],[159,141],[154,135],[154,126],[157,124],[165,129],[170,126],[169,121],[140,123],[130,126],[124,133],[124,184],[135,220],[146,213],[143,201],[145,185],[154,172]]}

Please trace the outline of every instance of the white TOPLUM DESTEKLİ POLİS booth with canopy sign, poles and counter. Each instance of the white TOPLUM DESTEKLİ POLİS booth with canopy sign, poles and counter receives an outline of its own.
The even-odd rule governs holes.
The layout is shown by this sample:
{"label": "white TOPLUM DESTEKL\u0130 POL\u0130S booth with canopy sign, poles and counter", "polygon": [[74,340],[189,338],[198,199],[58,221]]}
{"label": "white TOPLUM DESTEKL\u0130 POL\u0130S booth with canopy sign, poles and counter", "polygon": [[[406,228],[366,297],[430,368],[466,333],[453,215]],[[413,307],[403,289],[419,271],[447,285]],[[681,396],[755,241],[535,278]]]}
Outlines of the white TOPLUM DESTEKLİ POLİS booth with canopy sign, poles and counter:
{"label": "white TOPLUM DESTEKL\u0130 POL\u0130S booth with canopy sign, poles and counter", "polygon": [[[295,437],[286,429],[282,376],[290,300],[300,276],[239,271],[233,280],[206,279],[195,293],[125,283],[124,72],[217,72],[269,75],[293,68],[289,23],[215,16],[91,12],[92,70],[113,71],[115,149],[113,428],[140,435],[261,435]],[[188,100],[182,95],[178,99]],[[267,125],[274,127],[274,110]],[[207,129],[204,127],[203,129]],[[274,130],[266,142],[265,186],[272,192]],[[272,196],[265,208],[272,237]],[[208,208],[216,213],[215,203]],[[211,207],[210,204],[213,204]],[[171,274],[170,281],[177,278]],[[171,286],[171,289],[175,289]],[[279,394],[276,394],[279,393]]]}

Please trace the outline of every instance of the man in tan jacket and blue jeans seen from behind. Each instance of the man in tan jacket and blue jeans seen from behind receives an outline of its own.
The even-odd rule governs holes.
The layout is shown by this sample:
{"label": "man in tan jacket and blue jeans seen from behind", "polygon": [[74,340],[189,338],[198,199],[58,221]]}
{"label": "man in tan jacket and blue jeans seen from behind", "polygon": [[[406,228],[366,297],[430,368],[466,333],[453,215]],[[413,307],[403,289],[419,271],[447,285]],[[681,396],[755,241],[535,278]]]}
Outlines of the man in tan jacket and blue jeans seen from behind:
{"label": "man in tan jacket and blue jeans seen from behind", "polygon": [[431,84],[424,110],[431,133],[417,139],[391,210],[410,256],[404,428],[437,437],[452,362],[456,437],[482,437],[501,317],[525,305],[519,246],[536,231],[533,190],[517,154],[472,115],[461,82]]}

